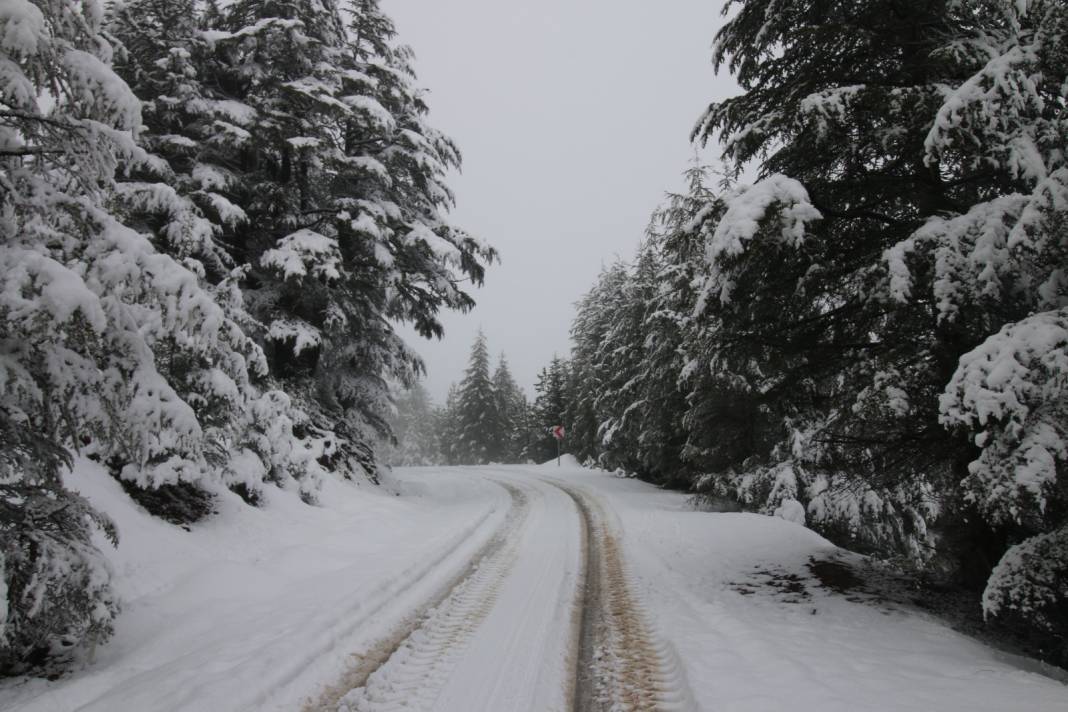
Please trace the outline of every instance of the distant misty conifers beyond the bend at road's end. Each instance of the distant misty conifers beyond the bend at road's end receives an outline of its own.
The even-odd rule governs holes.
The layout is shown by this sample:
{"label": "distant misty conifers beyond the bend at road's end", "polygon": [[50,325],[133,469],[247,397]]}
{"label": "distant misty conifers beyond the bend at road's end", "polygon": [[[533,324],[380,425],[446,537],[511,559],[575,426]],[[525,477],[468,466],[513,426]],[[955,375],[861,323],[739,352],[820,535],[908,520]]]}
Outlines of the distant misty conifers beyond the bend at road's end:
{"label": "distant misty conifers beyond the bend at road's end", "polygon": [[561,359],[541,369],[533,402],[516,383],[502,353],[490,368],[487,339],[480,332],[464,378],[441,406],[415,383],[396,398],[395,442],[386,459],[396,465],[544,462],[556,457],[551,434],[566,418],[567,365]]}

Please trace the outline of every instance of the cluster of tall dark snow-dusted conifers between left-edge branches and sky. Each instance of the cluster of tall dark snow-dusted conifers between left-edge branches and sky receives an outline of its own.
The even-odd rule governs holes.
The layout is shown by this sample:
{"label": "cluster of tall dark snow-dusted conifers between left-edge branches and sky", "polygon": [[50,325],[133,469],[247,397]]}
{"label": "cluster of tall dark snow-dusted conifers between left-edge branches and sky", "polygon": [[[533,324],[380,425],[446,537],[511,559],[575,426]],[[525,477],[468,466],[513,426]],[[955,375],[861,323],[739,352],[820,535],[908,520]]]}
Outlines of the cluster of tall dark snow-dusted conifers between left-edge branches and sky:
{"label": "cluster of tall dark snow-dusted conifers between left-edge branches and sky", "polygon": [[[124,184],[131,215],[208,279],[240,266],[233,308],[263,346],[265,384],[307,414],[321,465],[375,479],[387,382],[422,369],[392,322],[440,336],[438,311],[470,308],[459,285],[493,258],[444,218],[459,153],[426,124],[411,52],[375,0],[345,3],[347,27],[334,0],[178,5],[114,13],[163,159],[152,168],[175,192],[161,209]],[[175,243],[179,212],[197,240]]]}

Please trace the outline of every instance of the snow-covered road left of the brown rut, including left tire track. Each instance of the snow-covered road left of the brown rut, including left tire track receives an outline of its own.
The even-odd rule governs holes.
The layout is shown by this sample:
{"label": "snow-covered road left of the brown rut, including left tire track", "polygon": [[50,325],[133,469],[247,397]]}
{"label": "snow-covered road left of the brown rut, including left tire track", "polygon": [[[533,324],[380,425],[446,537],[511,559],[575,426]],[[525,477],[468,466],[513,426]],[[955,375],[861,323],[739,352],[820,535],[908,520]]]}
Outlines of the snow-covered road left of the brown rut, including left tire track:
{"label": "snow-covered road left of the brown rut, including left tire track", "polygon": [[512,474],[477,473],[509,491],[505,525],[340,709],[569,709],[582,532],[564,492]]}

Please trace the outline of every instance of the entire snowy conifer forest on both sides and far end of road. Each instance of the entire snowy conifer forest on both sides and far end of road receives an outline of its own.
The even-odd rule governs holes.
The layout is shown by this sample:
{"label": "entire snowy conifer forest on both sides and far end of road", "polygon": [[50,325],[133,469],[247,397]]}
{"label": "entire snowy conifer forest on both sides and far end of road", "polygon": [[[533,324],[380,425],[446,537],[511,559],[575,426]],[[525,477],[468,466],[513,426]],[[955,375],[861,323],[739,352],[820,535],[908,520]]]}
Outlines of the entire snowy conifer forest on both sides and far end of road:
{"label": "entire snowy conifer forest on both sides and far end of road", "polygon": [[441,336],[496,253],[378,0],[0,4],[0,675],[112,633],[78,458],[188,524],[383,460],[541,462],[557,425],[1068,663],[1068,5],[725,4],[720,163],[533,401],[480,334],[440,406],[394,326]]}

